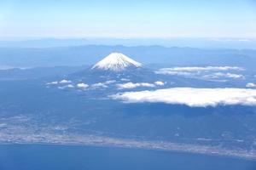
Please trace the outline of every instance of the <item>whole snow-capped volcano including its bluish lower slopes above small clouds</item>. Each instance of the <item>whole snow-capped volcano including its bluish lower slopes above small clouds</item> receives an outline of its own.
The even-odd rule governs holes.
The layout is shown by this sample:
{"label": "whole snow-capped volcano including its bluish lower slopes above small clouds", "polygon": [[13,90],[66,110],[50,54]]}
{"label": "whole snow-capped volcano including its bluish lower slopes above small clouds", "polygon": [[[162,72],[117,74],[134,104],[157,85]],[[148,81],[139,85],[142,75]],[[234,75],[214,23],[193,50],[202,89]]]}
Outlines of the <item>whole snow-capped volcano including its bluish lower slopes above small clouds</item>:
{"label": "whole snow-capped volcano including its bluish lower slopes above small clouds", "polygon": [[116,81],[148,81],[156,75],[154,71],[125,54],[111,53],[90,68],[76,72],[71,76],[87,82],[99,82],[113,79]]}

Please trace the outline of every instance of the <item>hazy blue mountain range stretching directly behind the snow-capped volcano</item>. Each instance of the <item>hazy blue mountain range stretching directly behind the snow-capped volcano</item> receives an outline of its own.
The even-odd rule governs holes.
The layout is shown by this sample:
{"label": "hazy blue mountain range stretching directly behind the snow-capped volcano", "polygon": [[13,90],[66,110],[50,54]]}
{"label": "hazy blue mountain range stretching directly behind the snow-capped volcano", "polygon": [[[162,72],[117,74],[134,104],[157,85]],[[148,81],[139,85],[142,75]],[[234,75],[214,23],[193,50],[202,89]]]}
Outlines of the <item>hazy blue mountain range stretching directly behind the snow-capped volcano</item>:
{"label": "hazy blue mountain range stretching directly behind the snow-capped volcano", "polygon": [[0,48],[0,66],[38,67],[92,65],[113,51],[132,56],[143,65],[240,66],[255,68],[256,50],[165,48],[160,46],[88,45],[65,48]]}

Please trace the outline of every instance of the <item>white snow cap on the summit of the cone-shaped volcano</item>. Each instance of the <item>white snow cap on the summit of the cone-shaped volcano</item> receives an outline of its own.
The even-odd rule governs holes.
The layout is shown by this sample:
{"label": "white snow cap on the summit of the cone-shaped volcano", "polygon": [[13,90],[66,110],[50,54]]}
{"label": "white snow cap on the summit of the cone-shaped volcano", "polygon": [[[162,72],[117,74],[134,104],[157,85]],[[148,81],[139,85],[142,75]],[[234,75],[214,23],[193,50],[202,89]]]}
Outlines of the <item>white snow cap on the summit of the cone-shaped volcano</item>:
{"label": "white snow cap on the summit of the cone-shaped volcano", "polygon": [[125,54],[112,53],[97,62],[96,65],[93,65],[91,69],[100,69],[106,71],[124,71],[129,67],[138,68],[141,66],[142,64],[127,57]]}

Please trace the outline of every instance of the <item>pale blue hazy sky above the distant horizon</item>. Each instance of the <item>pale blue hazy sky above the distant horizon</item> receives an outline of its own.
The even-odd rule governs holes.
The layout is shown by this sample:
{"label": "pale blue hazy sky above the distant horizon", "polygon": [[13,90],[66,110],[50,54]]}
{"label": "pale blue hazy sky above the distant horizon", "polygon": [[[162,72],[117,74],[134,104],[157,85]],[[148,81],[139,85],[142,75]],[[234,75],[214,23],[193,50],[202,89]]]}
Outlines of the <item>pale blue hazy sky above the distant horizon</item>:
{"label": "pale blue hazy sky above the distant horizon", "polygon": [[0,0],[0,37],[256,38],[256,0]]}

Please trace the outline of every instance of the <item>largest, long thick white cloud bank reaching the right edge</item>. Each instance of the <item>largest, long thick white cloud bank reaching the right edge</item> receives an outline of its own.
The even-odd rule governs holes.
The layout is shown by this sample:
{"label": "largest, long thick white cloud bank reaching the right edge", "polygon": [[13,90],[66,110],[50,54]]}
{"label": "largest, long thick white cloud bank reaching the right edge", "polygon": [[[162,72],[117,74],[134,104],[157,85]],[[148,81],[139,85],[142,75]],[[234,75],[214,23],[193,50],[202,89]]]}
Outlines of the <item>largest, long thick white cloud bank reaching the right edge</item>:
{"label": "largest, long thick white cloud bank reaching the right edge", "polygon": [[247,88],[166,88],[126,92],[110,96],[129,103],[162,102],[206,107],[216,105],[256,105],[256,90]]}

